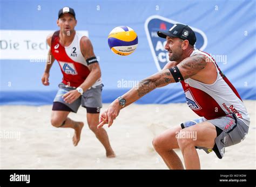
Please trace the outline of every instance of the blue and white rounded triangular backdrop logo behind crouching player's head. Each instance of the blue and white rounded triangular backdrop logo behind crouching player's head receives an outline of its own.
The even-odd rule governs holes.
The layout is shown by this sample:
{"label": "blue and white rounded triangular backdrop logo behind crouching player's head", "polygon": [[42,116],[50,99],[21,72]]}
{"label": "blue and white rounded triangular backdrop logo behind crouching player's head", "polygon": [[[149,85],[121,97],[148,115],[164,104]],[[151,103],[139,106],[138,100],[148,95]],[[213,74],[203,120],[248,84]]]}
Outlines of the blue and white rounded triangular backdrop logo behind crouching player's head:
{"label": "blue and white rounded triangular backdrop logo behind crouching player's head", "polygon": [[[147,41],[149,41],[151,53],[159,71],[163,69],[167,62],[169,62],[169,55],[165,50],[166,40],[164,38],[158,37],[157,31],[168,30],[171,27],[174,28],[175,24],[177,23],[177,21],[157,15],[151,16],[145,21],[144,26],[147,35]],[[198,28],[191,28],[197,37],[197,42],[194,45],[194,48],[203,51],[207,46],[207,37],[205,33]],[[187,37],[187,35],[188,31],[185,31],[183,36]]]}

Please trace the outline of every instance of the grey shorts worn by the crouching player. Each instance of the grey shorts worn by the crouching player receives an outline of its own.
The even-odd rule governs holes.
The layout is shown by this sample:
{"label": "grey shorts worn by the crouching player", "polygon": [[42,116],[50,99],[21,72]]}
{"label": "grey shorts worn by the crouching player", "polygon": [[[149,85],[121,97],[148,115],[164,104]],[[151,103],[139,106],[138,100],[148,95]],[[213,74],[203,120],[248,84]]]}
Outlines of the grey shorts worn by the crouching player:
{"label": "grey shorts worn by the crouching player", "polygon": [[203,121],[208,121],[216,127],[217,137],[215,138],[215,145],[212,149],[205,147],[196,148],[203,149],[207,154],[214,151],[219,159],[223,158],[225,147],[235,145],[246,138],[250,125],[250,121],[244,122],[232,113],[217,119],[206,120],[201,117],[195,120],[186,121],[181,124],[181,128],[190,127]]}

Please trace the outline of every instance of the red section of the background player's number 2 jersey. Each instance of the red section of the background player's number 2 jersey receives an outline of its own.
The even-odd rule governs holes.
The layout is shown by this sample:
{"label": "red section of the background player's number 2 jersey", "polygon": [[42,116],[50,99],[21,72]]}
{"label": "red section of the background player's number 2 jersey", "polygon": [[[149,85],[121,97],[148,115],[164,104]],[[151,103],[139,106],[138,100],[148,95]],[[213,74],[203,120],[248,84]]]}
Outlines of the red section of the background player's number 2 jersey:
{"label": "red section of the background player's number 2 jersey", "polygon": [[[88,67],[84,66],[82,63],[73,61],[68,54],[66,54],[65,47],[59,43],[59,31],[56,31],[52,35],[51,54],[58,61],[60,69],[62,70],[62,82],[64,84],[70,85],[71,87],[79,87],[90,74]],[[66,73],[63,70],[63,66],[70,68],[70,73]]]}

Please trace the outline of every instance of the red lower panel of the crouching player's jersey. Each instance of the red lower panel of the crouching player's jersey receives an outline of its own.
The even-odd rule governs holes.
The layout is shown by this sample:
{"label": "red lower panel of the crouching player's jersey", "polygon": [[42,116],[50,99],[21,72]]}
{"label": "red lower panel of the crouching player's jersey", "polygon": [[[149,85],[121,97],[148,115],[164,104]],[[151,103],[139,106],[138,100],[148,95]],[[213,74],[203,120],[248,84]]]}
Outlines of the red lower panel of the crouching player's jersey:
{"label": "red lower panel of the crouching player's jersey", "polygon": [[198,116],[205,117],[207,120],[215,119],[218,117],[226,116],[225,111],[221,109],[219,104],[206,92],[199,90],[197,88],[190,87],[185,81],[180,81],[183,90],[185,91],[185,94],[187,91],[191,92],[191,95],[194,99],[195,105],[198,105],[196,109],[193,109],[192,106],[190,106],[190,99],[187,98],[187,104],[190,106],[190,108],[198,114]]}

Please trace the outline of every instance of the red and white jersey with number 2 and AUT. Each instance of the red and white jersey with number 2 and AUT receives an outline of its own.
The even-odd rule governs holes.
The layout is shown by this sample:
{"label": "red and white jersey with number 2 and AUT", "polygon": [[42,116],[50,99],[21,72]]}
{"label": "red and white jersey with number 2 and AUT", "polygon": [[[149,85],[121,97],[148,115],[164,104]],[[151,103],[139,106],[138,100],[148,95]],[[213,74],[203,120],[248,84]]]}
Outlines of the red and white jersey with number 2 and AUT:
{"label": "red and white jersey with number 2 and AUT", "polygon": [[[80,50],[82,37],[83,35],[76,32],[71,44],[65,47],[59,43],[59,31],[52,35],[51,54],[58,61],[62,70],[62,82],[70,87],[79,87],[91,72]],[[102,84],[101,78],[92,87],[96,87],[99,84]]]}

